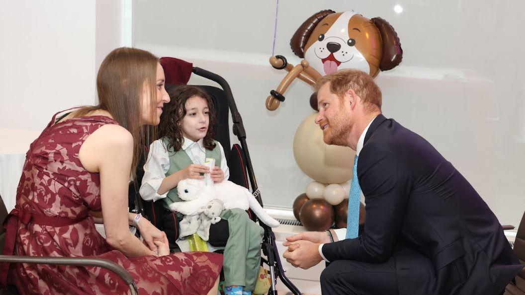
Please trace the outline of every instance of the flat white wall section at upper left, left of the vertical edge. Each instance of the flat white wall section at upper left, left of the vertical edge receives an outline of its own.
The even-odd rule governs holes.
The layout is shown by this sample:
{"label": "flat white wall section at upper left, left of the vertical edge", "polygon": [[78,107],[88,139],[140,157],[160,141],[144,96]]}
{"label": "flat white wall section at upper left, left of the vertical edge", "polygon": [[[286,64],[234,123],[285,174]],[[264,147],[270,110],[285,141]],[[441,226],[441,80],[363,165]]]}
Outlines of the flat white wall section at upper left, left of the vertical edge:
{"label": "flat white wall section at upper left, left of the vertical edge", "polygon": [[0,127],[43,129],[95,101],[95,2],[0,2]]}

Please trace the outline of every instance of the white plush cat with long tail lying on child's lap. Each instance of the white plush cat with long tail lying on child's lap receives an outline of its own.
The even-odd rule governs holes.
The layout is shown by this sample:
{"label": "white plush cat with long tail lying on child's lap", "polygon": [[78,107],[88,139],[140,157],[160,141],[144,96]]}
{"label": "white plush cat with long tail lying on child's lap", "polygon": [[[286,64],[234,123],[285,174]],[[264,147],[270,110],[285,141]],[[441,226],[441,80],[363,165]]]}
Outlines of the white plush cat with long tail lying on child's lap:
{"label": "white plush cat with long tail lying on child's lap", "polygon": [[180,212],[184,215],[197,215],[199,208],[206,206],[212,199],[220,199],[224,203],[224,209],[250,208],[262,223],[269,227],[279,226],[279,222],[272,218],[262,207],[257,199],[243,186],[236,185],[230,181],[215,183],[206,186],[203,180],[185,179],[177,184],[178,196],[185,202],[174,202],[170,204],[170,210]]}

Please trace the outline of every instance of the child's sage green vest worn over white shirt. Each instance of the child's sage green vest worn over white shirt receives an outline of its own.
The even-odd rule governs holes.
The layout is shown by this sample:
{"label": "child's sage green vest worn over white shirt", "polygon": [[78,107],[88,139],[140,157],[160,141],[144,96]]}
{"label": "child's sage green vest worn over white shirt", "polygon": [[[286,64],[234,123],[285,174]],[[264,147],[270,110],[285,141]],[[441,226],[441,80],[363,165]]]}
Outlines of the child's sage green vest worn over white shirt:
{"label": "child's sage green vest worn over white shirt", "polygon": [[[163,138],[162,141],[164,142],[164,146],[166,146],[170,142],[169,139]],[[215,166],[220,167],[220,143],[218,141],[215,142],[215,149],[213,150],[206,150],[206,157],[207,158],[213,158],[215,159]],[[186,152],[181,149],[179,151],[174,151],[173,148],[167,149],[167,153],[170,159],[170,168],[166,172],[166,177],[170,176],[171,174],[183,170],[187,166],[193,164],[193,161],[190,159],[190,156],[186,154]],[[181,198],[178,197],[177,187],[172,188],[168,193],[167,197],[164,198],[164,207],[168,208],[168,205],[170,205],[173,202],[181,202]]]}

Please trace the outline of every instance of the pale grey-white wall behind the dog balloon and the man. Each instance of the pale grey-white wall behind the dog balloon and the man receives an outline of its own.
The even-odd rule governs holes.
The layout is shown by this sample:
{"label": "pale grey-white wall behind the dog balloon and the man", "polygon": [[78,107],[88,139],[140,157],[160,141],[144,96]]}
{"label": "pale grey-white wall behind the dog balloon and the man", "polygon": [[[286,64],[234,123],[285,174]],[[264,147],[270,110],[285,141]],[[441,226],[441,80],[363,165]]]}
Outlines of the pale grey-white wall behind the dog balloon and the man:
{"label": "pale grey-white wall behind the dog balloon and the man", "polygon": [[[406,2],[406,3],[405,3]],[[292,140],[312,112],[312,88],[295,81],[276,112],[265,98],[285,72],[268,64],[277,1],[133,2],[133,45],[215,71],[232,86],[265,205],[291,207],[310,181]],[[403,7],[396,13],[394,6]],[[525,209],[525,61],[519,0],[279,2],[275,54],[299,58],[289,40],[322,9],[380,16],[397,31],[400,67],[380,73],[383,111],[424,136],[477,189],[503,224]],[[209,83],[193,77],[193,83]]]}

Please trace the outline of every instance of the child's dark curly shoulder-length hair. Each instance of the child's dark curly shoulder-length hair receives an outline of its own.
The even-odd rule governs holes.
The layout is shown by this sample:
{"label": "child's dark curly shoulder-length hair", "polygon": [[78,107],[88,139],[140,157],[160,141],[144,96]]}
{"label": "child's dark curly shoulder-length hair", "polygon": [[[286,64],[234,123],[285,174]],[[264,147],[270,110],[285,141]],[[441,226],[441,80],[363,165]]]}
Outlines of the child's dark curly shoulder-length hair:
{"label": "child's dark curly shoulder-length hair", "polygon": [[186,101],[194,96],[206,100],[209,110],[208,132],[203,139],[204,148],[207,150],[215,149],[213,132],[215,128],[215,106],[211,97],[202,88],[190,85],[170,85],[166,86],[166,91],[170,96],[170,102],[164,104],[159,123],[159,138],[167,136],[169,143],[167,149],[173,148],[175,152],[180,151],[184,142],[180,124],[186,115]]}

